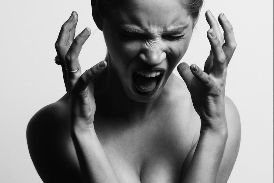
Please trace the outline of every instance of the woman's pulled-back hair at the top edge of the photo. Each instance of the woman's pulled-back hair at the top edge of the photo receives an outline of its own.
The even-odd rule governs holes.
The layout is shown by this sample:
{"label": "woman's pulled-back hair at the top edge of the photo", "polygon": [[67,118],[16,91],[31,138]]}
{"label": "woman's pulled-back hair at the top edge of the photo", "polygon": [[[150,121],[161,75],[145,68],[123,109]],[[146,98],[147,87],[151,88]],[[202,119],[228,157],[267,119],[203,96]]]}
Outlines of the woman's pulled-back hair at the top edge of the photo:
{"label": "woman's pulled-back hair at the top edge of the photo", "polygon": [[[193,21],[195,21],[198,16],[200,9],[203,5],[203,0],[179,0],[182,1],[182,5],[188,10]],[[121,0],[92,0],[92,10],[94,11],[97,8],[97,11],[104,12],[104,8],[111,7],[113,5],[118,5],[117,2],[121,2]]]}

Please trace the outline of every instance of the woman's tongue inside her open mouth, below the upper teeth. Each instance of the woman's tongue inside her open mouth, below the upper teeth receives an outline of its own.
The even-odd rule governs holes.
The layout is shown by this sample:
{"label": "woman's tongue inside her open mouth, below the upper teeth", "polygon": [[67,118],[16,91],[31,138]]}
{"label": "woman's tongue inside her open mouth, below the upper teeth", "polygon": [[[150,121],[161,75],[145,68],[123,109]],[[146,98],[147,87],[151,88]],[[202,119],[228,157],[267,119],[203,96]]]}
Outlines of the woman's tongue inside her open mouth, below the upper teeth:
{"label": "woman's tongue inside her open mouth, below the upper teeth", "polygon": [[142,76],[138,74],[135,79],[135,87],[140,92],[150,92],[155,88],[157,84],[157,78],[146,78],[145,76]]}

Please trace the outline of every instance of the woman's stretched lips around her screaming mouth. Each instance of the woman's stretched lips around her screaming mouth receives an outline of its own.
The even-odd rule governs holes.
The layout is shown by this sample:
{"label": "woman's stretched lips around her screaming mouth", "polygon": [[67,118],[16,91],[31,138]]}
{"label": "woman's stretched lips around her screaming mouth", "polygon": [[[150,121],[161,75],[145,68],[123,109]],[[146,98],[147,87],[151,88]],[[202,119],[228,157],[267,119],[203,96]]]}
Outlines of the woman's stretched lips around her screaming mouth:
{"label": "woman's stretched lips around her screaming mouth", "polygon": [[[142,70],[144,70],[144,71],[160,71],[160,72],[162,72],[159,76],[160,76],[160,79],[159,79],[159,81],[157,82],[157,84],[156,84],[156,86],[155,86],[155,88],[153,89],[153,90],[151,90],[150,92],[147,92],[147,93],[145,93],[145,92],[140,92],[139,90],[137,90],[137,88],[135,87],[135,85],[134,85],[134,81],[133,81],[133,73],[135,73],[135,72],[137,72],[137,71],[142,71]],[[138,94],[138,95],[142,95],[142,96],[151,96],[151,95],[153,95],[154,93],[156,93],[156,91],[160,88],[160,86],[162,85],[162,83],[163,83],[163,78],[164,78],[164,76],[165,76],[165,69],[160,69],[160,68],[153,68],[153,69],[136,69],[134,72],[132,72],[132,75],[131,75],[131,85],[132,85],[132,89],[133,89],[133,92],[135,93],[135,94]]]}

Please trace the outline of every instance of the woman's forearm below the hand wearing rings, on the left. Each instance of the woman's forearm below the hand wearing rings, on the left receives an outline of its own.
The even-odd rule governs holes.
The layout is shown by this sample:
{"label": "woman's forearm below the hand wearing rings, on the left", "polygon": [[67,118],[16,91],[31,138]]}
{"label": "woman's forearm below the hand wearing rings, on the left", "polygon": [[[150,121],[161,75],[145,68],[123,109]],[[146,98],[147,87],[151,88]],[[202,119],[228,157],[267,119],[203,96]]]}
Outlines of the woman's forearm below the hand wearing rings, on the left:
{"label": "woman's forearm below the hand wearing rings, on the left", "polygon": [[85,183],[119,183],[94,130],[71,132]]}

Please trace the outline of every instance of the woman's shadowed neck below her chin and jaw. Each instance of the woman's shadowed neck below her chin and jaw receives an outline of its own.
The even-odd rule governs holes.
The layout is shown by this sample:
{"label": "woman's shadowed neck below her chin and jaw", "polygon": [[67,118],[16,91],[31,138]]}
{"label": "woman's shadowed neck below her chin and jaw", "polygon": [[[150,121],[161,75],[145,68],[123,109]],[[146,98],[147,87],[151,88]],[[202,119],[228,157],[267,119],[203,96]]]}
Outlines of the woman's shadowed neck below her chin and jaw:
{"label": "woman's shadowed neck below her chin and jaw", "polygon": [[95,81],[94,96],[96,101],[100,101],[100,104],[96,104],[97,111],[102,114],[107,111],[107,115],[110,117],[126,118],[129,121],[141,120],[149,117],[149,114],[156,113],[155,109],[159,108],[167,99],[167,91],[163,90],[152,101],[136,102],[125,93],[109,54],[107,54],[105,61],[107,68]]}

